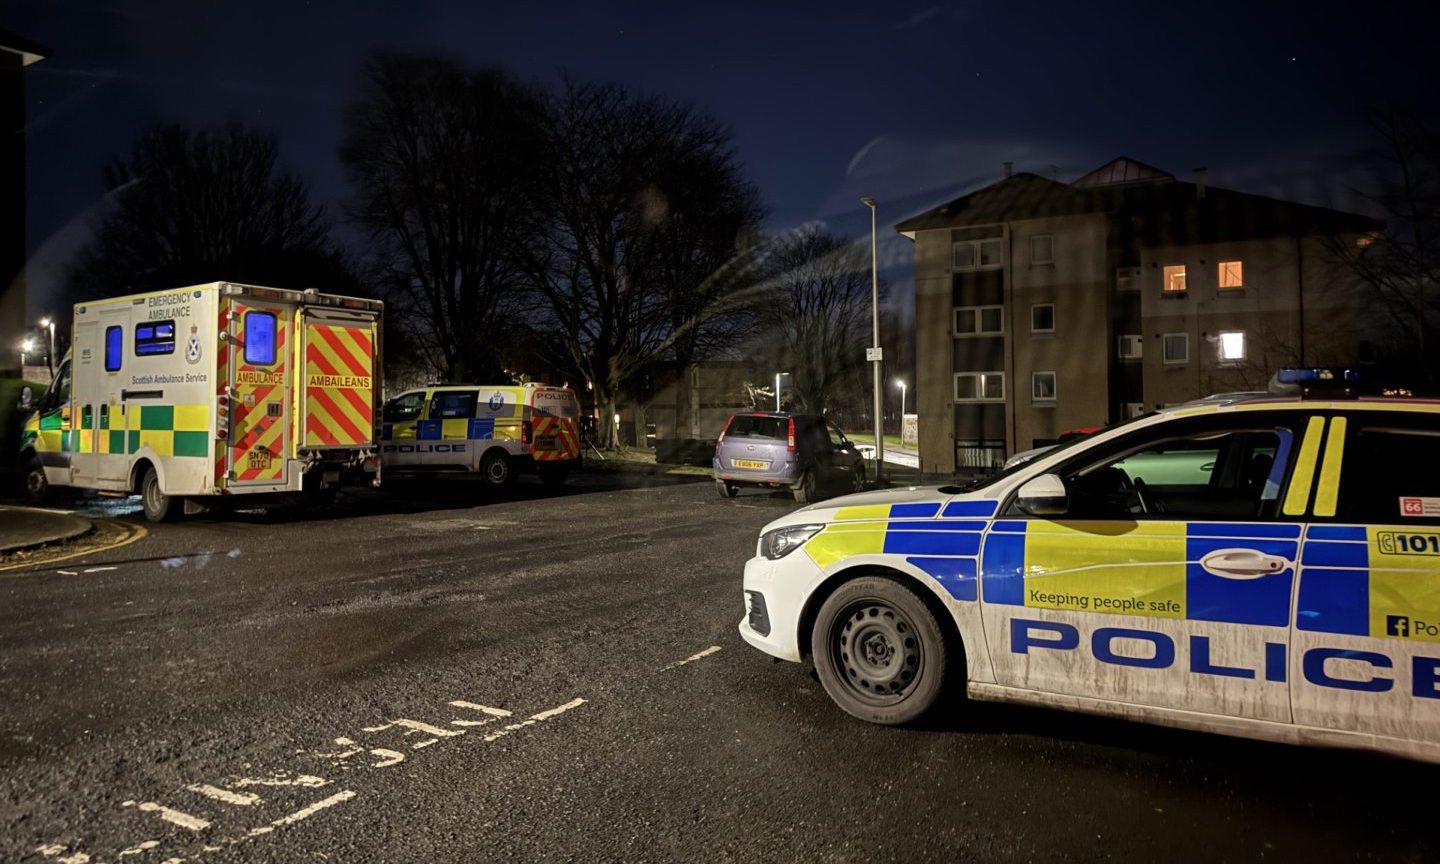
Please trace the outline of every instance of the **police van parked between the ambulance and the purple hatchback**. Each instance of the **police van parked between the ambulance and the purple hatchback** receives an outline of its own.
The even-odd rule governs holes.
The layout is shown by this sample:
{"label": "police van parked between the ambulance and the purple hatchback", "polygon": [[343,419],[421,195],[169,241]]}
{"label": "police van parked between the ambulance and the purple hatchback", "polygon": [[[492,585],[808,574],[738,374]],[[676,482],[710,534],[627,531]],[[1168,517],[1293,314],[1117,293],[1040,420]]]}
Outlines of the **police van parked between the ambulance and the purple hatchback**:
{"label": "police van parked between the ambulance and the purple hatchback", "polygon": [[490,487],[534,472],[559,485],[580,462],[575,390],[546,384],[436,384],[384,403],[386,472],[480,474]]}

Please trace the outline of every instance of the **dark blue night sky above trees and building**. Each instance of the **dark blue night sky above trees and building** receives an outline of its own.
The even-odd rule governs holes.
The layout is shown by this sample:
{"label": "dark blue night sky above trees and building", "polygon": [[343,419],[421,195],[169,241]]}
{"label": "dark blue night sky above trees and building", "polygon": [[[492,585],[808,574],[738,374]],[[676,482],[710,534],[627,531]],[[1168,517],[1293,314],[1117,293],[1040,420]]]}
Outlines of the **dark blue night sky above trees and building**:
{"label": "dark blue night sky above trees and building", "polygon": [[53,50],[27,75],[30,310],[55,302],[101,166],[151,124],[271,130],[340,216],[341,111],[374,49],[691,99],[733,127],[772,229],[858,238],[861,194],[884,229],[1005,160],[1070,180],[1126,154],[1356,207],[1365,108],[1440,101],[1437,6],[20,0],[0,26]]}

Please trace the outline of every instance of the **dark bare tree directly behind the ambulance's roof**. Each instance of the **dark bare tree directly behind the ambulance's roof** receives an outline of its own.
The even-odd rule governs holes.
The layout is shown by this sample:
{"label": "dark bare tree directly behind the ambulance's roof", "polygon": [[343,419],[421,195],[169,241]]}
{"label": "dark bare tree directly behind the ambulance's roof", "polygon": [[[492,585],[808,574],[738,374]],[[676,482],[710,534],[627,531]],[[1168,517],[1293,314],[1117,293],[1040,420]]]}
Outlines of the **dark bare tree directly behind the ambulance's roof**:
{"label": "dark bare tree directly behind the ambulance's roof", "polygon": [[275,138],[230,125],[157,127],[105,170],[112,209],[71,279],[81,297],[228,279],[354,291]]}

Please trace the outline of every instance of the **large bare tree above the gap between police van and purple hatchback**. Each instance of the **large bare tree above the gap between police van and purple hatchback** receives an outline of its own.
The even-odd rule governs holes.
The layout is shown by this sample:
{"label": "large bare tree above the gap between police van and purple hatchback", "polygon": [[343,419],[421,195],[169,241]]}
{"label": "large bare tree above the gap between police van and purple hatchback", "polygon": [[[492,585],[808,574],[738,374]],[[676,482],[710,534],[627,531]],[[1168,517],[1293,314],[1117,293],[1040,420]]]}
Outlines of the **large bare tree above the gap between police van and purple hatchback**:
{"label": "large bare tree above the gap between police van and purple hatchback", "polygon": [[[647,373],[732,338],[762,210],[730,132],[688,105],[566,82],[553,99],[530,271],[541,327],[602,416]],[[602,444],[612,425],[600,423]]]}

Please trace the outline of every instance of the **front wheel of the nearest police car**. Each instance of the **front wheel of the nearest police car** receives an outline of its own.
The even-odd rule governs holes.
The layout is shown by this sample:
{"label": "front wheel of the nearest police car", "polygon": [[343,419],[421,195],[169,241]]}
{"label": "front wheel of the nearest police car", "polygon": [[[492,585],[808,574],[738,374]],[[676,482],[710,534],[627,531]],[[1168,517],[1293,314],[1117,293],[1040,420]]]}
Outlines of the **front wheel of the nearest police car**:
{"label": "front wheel of the nearest police car", "polygon": [[825,693],[847,714],[894,726],[939,700],[950,662],[940,624],[906,585],[864,576],[819,609],[811,657]]}

